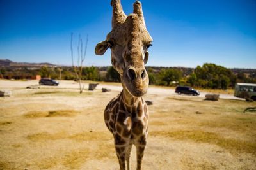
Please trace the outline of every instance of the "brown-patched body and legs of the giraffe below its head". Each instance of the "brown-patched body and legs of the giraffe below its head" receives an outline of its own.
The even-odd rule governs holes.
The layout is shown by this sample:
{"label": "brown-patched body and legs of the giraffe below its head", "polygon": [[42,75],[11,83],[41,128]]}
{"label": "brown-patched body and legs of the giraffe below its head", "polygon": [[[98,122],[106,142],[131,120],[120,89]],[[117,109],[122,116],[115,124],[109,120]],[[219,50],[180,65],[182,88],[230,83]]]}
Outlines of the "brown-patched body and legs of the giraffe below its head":
{"label": "brown-patched body and legs of the giraffe below its head", "polygon": [[[130,99],[131,100],[131,99]],[[133,98],[132,104],[125,99],[124,91],[112,99],[104,111],[104,120],[115,139],[120,162],[129,162],[132,145],[138,150],[139,164],[147,144],[148,109],[142,97]],[[125,164],[121,163],[125,167]]]}

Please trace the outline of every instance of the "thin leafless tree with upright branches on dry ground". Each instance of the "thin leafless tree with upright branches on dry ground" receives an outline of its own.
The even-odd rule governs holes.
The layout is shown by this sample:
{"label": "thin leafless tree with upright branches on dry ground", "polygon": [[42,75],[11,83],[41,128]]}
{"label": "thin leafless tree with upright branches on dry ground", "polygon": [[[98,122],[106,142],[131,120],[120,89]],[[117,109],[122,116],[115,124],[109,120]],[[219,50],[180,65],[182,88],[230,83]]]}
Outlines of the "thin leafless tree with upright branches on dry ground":
{"label": "thin leafless tree with upright branches on dry ground", "polygon": [[80,93],[83,92],[84,85],[82,87],[81,78],[82,78],[82,72],[83,72],[83,62],[86,56],[86,50],[87,50],[87,44],[88,44],[88,36],[86,36],[86,42],[83,49],[83,39],[81,38],[80,34],[78,37],[78,45],[77,45],[77,66],[74,64],[74,57],[73,57],[73,33],[71,33],[71,59],[72,59],[72,67],[74,69],[74,72],[76,74],[76,78],[79,83],[79,89]]}

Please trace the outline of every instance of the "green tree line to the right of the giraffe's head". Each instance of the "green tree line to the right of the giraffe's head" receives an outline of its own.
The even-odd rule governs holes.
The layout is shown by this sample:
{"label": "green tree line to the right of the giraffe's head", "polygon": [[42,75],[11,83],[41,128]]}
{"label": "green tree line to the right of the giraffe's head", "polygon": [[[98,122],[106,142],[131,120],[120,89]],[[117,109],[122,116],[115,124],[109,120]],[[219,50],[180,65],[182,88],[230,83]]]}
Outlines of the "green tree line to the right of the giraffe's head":
{"label": "green tree line to the right of the giraffe's head", "polygon": [[256,83],[255,73],[234,74],[230,69],[211,63],[197,66],[190,74],[179,68],[161,69],[158,73],[149,69],[148,76],[152,85],[188,85],[206,89],[234,88],[237,82]]}

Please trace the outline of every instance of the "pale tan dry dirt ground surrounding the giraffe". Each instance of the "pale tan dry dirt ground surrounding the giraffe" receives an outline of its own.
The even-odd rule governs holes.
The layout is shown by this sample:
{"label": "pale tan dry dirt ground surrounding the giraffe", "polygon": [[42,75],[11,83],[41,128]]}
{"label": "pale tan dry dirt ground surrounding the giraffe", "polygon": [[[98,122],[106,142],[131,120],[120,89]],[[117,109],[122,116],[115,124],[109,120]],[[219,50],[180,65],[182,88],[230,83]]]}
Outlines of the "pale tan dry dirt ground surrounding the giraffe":
{"label": "pale tan dry dirt ground surrounding the giraffe", "polygon": [[[61,81],[26,89],[36,83],[0,80],[0,90],[12,91],[0,98],[0,169],[119,169],[103,111],[122,87],[104,83],[79,94],[75,82]],[[205,101],[156,87],[144,98],[154,104],[143,169],[256,169],[256,113],[244,113],[255,102]]]}

